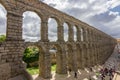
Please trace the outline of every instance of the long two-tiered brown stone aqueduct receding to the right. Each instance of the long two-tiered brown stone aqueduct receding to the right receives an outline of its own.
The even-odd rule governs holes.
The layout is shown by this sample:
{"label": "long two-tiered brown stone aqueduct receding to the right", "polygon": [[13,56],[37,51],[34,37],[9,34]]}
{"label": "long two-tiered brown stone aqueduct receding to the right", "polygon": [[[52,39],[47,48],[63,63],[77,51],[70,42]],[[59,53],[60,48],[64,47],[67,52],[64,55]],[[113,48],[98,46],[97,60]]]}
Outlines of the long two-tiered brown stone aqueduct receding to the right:
{"label": "long two-tiered brown stone aqueduct receding to the right", "polygon": [[[21,74],[26,76],[22,57],[25,48],[29,45],[35,45],[41,51],[39,76],[43,78],[51,77],[49,49],[52,46],[57,48],[56,72],[67,74],[67,67],[76,71],[84,67],[103,64],[116,45],[116,40],[111,36],[39,0],[0,0],[0,3],[7,10],[7,39],[0,43],[0,80],[11,80]],[[22,15],[25,11],[34,11],[41,18],[41,40],[38,42],[26,43],[22,39]],[[49,18],[55,18],[58,23],[56,42],[48,40]],[[67,42],[63,39],[63,23],[65,22],[69,25]],[[77,28],[77,41],[73,40],[73,26]]]}

